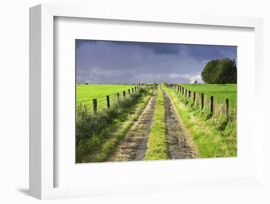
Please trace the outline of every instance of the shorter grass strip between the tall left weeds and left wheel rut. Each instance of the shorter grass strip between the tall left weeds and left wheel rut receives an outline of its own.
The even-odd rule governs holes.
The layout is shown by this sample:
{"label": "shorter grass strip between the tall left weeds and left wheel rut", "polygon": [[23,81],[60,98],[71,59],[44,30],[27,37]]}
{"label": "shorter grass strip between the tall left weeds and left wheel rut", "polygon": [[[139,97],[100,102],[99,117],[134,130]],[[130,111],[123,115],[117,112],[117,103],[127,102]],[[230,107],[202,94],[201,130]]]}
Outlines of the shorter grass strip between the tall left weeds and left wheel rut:
{"label": "shorter grass strip between the tall left weeds and left wheel rut", "polygon": [[[76,148],[77,163],[104,162],[111,155],[127,130],[132,126],[141,111],[149,101],[155,88],[147,88],[138,102],[125,111],[121,111],[119,118],[115,118],[98,134],[82,140]],[[118,110],[119,111],[119,110]]]}

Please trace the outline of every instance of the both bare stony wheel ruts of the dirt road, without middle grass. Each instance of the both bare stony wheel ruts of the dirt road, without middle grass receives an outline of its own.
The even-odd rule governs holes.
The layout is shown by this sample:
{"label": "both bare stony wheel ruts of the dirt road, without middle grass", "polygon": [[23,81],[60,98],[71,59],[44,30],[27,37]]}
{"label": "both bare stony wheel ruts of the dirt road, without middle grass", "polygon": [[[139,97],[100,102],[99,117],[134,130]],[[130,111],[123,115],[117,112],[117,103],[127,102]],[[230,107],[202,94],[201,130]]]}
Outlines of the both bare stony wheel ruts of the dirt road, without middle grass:
{"label": "both bare stony wheel ruts of the dirt road, without middle grass", "polygon": [[[170,159],[197,158],[198,150],[185,128],[169,94],[161,89],[165,100],[167,152]],[[141,161],[147,151],[149,130],[153,123],[157,90],[143,109],[139,118],[126,133],[108,161]]]}

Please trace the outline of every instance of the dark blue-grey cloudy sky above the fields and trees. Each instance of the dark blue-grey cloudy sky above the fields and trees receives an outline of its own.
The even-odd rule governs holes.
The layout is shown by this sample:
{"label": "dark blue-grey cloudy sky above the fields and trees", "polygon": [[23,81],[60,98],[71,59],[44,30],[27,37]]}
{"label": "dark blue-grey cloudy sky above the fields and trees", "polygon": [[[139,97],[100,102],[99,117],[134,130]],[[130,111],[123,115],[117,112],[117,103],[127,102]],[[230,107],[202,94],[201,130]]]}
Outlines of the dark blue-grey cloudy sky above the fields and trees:
{"label": "dark blue-grey cloudy sky above the fields and trees", "polygon": [[212,59],[235,58],[236,47],[76,40],[77,83],[203,83]]}

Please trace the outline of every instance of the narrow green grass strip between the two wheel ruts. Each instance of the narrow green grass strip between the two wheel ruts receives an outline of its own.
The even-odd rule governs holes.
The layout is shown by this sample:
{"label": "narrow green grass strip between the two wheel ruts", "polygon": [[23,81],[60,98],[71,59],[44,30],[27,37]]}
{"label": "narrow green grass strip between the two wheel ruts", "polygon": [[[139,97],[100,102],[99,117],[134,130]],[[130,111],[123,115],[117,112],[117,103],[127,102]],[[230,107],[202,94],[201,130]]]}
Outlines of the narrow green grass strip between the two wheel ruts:
{"label": "narrow green grass strip between the two wheel ruts", "polygon": [[161,89],[158,90],[153,124],[150,128],[148,150],[144,160],[168,159],[165,125],[165,101]]}

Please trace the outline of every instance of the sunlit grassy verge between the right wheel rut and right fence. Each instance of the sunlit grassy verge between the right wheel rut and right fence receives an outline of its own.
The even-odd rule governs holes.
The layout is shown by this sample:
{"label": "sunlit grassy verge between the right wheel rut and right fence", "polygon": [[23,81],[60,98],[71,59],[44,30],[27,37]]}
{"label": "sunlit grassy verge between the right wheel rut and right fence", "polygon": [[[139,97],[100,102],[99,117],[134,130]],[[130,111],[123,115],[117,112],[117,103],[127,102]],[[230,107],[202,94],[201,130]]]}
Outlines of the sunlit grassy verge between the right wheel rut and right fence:
{"label": "sunlit grassy verge between the right wheel rut and right fence", "polygon": [[208,117],[207,108],[200,110],[200,106],[192,105],[191,100],[186,99],[182,94],[180,95],[164,85],[162,87],[172,98],[198,148],[200,157],[237,156],[236,118],[232,117],[227,120],[224,114]]}

